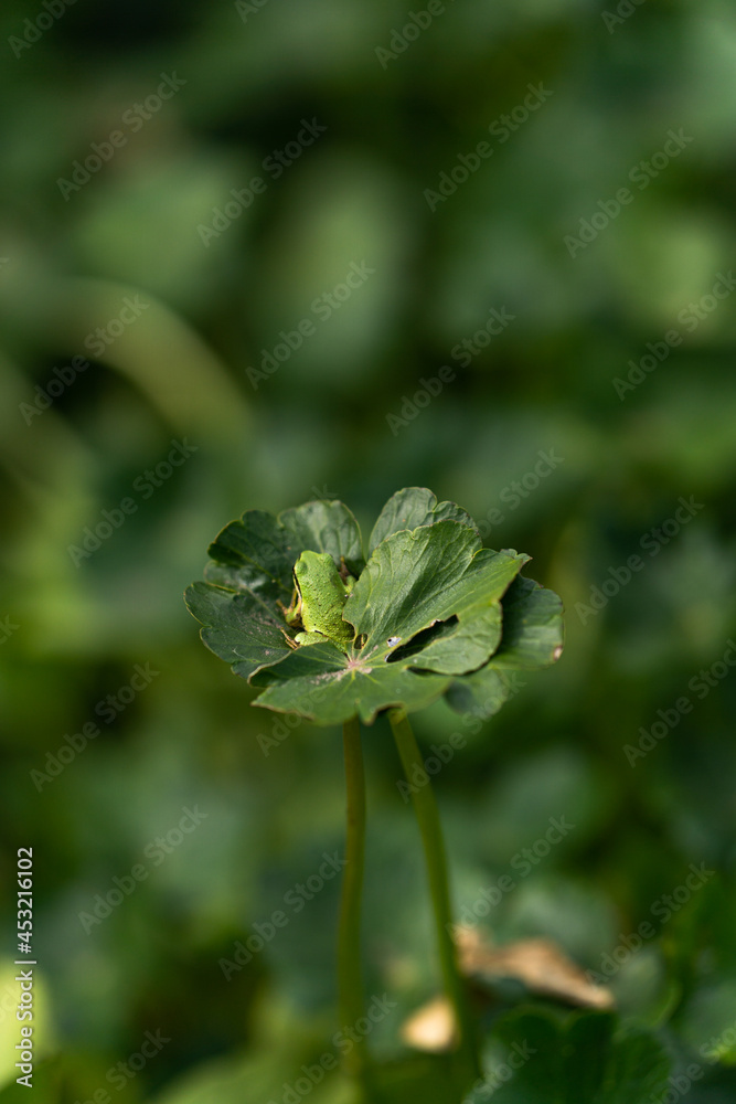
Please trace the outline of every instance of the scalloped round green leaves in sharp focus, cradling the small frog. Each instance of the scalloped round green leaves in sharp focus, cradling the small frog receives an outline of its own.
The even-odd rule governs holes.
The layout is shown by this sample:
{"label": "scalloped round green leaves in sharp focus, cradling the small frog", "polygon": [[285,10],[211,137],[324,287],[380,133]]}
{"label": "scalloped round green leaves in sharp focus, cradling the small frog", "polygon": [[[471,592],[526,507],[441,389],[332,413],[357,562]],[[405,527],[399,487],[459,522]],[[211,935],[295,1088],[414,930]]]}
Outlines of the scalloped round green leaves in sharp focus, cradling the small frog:
{"label": "scalloped round green leaves in sharp focus, cradling the small frog", "polygon": [[[469,514],[426,488],[390,499],[367,563],[338,501],[278,518],[246,511],[210,555],[205,582],[186,592],[203,641],[263,690],[254,704],[318,724],[371,724],[381,710],[422,709],[440,694],[490,715],[514,669],[562,650],[559,599],[519,574],[529,556],[484,549]],[[295,601],[297,561],[309,601]]]}

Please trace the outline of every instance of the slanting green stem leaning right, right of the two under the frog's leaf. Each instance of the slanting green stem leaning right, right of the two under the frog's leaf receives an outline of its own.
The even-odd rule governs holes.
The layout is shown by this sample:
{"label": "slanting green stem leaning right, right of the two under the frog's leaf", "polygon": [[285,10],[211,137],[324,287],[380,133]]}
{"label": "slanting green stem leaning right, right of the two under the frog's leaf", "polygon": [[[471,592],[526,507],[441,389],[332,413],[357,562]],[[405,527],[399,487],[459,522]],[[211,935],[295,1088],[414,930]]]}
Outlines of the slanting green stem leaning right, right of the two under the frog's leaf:
{"label": "slanting green stem leaning right, right of the two under the frog's leaf", "polygon": [[422,753],[417,746],[406,713],[403,709],[392,709],[388,713],[388,720],[407,782],[409,784],[416,782],[417,771],[423,781],[420,787],[413,785],[412,800],[419,825],[419,832],[422,834],[445,991],[455,1011],[459,1036],[458,1057],[462,1062],[463,1071],[468,1076],[479,1078],[482,1074],[478,1057],[476,1031],[470,1016],[466,986],[460,976],[457,948],[452,938],[452,911],[450,907],[447,858],[437,802],[435,800],[429,776],[425,769]]}

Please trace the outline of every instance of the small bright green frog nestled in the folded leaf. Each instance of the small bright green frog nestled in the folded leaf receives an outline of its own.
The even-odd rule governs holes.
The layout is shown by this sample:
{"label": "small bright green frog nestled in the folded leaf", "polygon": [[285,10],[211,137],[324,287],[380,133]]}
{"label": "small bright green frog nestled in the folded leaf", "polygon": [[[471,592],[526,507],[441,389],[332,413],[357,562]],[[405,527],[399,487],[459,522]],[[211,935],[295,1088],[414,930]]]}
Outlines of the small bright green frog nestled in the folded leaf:
{"label": "small bright green frog nestled in the folded leaf", "polygon": [[296,593],[284,609],[287,624],[299,624],[297,644],[324,644],[331,640],[343,650],[355,638],[352,625],[342,619],[342,609],[355,580],[343,567],[338,571],[329,552],[302,552],[294,565]]}

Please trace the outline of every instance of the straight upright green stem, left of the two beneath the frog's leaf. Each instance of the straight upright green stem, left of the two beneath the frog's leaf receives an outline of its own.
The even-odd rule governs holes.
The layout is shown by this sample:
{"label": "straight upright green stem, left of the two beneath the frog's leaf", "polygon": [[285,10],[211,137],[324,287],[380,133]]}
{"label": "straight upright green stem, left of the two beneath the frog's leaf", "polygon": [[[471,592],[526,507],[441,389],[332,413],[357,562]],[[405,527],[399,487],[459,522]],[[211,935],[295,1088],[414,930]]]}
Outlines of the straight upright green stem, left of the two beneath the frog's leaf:
{"label": "straight upright green stem, left of the two beneath the frog's leaf", "polygon": [[[365,774],[361,747],[361,726],[356,716],[342,726],[345,754],[348,818],[345,859],[342,880],[340,928],[338,933],[338,983],[341,1028],[352,1028],[365,1012],[361,970],[361,896],[365,856]],[[365,1040],[356,1042],[345,1058],[345,1070],[356,1078],[367,1095]]]}

